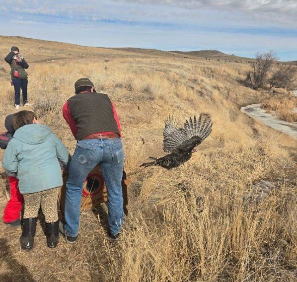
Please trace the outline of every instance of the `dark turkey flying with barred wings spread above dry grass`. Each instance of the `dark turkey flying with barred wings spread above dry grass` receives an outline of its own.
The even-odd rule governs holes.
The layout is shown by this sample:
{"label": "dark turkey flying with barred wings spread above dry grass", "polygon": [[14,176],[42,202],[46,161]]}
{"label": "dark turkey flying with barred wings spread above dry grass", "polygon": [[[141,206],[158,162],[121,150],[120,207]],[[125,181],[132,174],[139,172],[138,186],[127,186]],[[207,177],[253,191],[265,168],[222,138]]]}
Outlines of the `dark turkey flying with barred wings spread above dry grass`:
{"label": "dark turkey flying with barred wings spread above dry grass", "polygon": [[141,166],[159,165],[170,169],[185,163],[196,152],[195,147],[210,135],[212,127],[211,117],[207,113],[200,114],[198,119],[196,116],[193,119],[190,117],[183,128],[177,127],[173,117],[167,117],[163,130],[163,150],[168,154],[160,158],[148,157],[153,161],[144,162]]}

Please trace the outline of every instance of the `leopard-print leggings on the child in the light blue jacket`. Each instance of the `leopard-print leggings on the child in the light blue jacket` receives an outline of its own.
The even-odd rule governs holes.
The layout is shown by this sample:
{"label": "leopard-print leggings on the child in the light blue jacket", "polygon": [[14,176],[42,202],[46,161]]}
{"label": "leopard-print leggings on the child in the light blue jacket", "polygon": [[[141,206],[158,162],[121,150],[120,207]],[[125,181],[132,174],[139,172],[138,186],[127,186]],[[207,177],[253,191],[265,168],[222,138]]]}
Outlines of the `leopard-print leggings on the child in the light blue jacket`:
{"label": "leopard-print leggings on the child in the light blue jacket", "polygon": [[24,218],[37,217],[41,205],[45,222],[56,222],[58,220],[57,201],[60,187],[23,194],[25,201]]}

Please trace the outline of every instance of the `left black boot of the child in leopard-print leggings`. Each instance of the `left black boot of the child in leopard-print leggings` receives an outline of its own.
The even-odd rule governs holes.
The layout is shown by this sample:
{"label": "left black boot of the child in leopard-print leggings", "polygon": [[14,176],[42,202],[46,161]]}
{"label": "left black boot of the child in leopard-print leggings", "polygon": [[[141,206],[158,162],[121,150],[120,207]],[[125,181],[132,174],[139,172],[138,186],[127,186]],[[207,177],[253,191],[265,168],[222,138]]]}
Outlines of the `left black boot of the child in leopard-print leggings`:
{"label": "left black boot of the child in leopard-print leggings", "polygon": [[37,217],[24,218],[22,222],[23,232],[19,240],[21,243],[21,248],[28,251],[33,248]]}

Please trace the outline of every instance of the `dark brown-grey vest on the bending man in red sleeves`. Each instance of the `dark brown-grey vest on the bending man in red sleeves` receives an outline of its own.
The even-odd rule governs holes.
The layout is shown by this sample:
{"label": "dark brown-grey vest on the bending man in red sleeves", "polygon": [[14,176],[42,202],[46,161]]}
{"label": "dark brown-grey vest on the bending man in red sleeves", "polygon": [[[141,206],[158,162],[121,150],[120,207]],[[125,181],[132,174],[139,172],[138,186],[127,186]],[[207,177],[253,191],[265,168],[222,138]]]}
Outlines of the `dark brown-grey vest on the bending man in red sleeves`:
{"label": "dark brown-grey vest on the bending man in red sleeves", "polygon": [[120,135],[114,119],[112,103],[106,94],[79,93],[68,100],[70,114],[76,122],[76,140],[99,132]]}

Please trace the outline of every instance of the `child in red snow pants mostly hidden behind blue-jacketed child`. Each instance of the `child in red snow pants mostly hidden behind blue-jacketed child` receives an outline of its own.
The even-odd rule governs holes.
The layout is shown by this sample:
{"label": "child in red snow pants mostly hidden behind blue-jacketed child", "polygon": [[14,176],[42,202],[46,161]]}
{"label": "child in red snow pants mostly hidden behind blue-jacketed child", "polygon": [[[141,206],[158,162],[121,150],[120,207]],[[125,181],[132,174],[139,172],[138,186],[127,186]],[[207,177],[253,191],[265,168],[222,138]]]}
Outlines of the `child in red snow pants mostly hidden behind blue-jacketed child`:
{"label": "child in red snow pants mostly hidden behind blue-jacketed child", "polygon": [[[6,149],[8,142],[12,139],[14,128],[12,124],[14,114],[5,118],[4,125],[7,131],[0,134],[0,148]],[[18,190],[18,179],[15,172],[6,171],[9,183],[10,199],[8,200],[3,211],[3,222],[12,227],[20,226],[20,212],[23,207],[24,198]]]}

